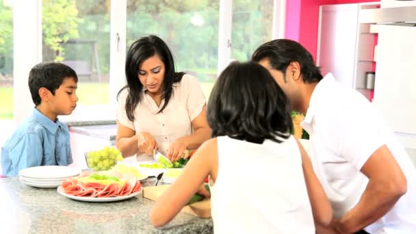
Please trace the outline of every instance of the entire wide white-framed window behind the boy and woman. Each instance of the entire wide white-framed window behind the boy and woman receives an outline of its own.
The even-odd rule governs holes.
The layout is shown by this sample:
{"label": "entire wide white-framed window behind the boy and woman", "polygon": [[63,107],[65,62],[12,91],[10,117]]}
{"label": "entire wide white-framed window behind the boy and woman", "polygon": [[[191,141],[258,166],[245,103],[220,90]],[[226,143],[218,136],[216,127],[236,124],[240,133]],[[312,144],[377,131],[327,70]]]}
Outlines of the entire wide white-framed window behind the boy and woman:
{"label": "entire wide white-framed window behind the boy and woman", "polygon": [[[27,17],[17,18],[14,34],[18,37],[14,42],[12,38],[6,39],[5,45],[2,39],[13,35],[7,31],[12,30],[11,3],[15,13]],[[285,3],[285,0],[0,0],[0,101],[7,100],[10,105],[13,92],[25,96],[18,100],[23,111],[13,116],[12,105],[1,105],[0,118],[6,116],[20,122],[29,114],[33,103],[24,78],[31,66],[43,60],[68,64],[79,75],[77,109],[70,116],[60,117],[62,120],[114,120],[116,93],[125,81],[125,48],[149,34],[166,41],[177,70],[197,77],[208,99],[218,72],[229,64],[230,58],[249,60],[260,44],[272,39],[272,35],[276,38],[276,31],[282,35],[284,27],[277,24],[284,24]],[[28,36],[34,38],[30,43],[26,40]],[[14,91],[13,44],[14,63],[19,66],[14,74],[22,77],[14,79]],[[3,89],[5,79],[10,83],[9,94]]]}

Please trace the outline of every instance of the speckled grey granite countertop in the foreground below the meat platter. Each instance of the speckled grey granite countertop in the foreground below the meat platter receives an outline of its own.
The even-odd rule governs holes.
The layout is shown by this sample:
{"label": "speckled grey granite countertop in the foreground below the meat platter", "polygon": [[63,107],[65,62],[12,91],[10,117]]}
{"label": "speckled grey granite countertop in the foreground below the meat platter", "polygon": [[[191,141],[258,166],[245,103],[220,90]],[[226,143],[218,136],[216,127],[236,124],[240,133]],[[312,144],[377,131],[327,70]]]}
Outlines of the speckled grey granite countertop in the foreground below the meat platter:
{"label": "speckled grey granite countertop in the foreground below the meat platter", "polygon": [[148,213],[154,202],[140,196],[86,203],[29,187],[18,177],[0,179],[0,191],[0,226],[7,233],[213,233],[211,219],[186,213],[153,228]]}

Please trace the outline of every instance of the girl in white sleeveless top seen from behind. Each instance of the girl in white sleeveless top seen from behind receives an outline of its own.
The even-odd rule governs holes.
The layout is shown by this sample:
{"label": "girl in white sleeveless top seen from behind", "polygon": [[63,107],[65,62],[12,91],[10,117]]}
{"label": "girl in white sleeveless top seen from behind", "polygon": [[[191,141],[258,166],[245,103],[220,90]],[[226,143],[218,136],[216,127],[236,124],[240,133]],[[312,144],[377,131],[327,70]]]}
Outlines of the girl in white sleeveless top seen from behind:
{"label": "girl in white sleeveless top seen from behind", "polygon": [[214,233],[315,233],[332,211],[302,145],[289,103],[270,73],[233,63],[211,92],[207,140],[157,200],[154,226],[172,220],[209,176]]}

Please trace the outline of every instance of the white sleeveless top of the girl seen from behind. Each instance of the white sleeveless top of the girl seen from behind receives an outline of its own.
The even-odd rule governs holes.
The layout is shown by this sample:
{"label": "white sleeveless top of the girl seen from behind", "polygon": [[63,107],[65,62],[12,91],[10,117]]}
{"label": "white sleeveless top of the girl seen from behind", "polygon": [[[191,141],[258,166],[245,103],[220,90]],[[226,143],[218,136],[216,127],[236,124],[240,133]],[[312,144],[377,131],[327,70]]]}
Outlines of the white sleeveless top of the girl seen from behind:
{"label": "white sleeveless top of the girl seen from behind", "polygon": [[300,150],[285,142],[255,144],[218,137],[211,186],[214,233],[315,233]]}

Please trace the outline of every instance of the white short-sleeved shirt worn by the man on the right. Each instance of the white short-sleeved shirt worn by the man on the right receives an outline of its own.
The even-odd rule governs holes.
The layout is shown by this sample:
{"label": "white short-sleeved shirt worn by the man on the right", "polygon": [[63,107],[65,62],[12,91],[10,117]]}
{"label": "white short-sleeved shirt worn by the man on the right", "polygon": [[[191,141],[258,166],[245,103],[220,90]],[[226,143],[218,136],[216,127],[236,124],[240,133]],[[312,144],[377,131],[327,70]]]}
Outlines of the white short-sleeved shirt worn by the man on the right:
{"label": "white short-sleeved shirt worn by the man on the right", "polygon": [[359,202],[368,179],[361,168],[386,144],[406,175],[408,190],[369,233],[416,233],[416,170],[402,144],[365,97],[341,86],[328,73],[313,90],[300,124],[310,136],[313,167],[330,199],[335,218]]}

